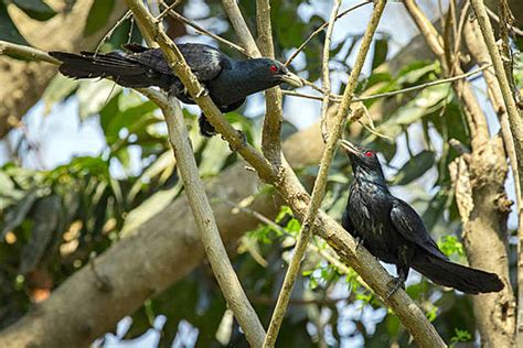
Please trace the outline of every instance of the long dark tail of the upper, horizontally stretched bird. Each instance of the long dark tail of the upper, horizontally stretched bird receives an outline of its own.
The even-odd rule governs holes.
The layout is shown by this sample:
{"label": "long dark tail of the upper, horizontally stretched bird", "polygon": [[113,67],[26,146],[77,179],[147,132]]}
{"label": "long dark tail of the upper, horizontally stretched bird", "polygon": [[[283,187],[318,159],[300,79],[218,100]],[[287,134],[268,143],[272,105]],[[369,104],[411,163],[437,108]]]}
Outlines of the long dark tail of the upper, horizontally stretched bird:
{"label": "long dark tail of the upper, horizontally stretched bird", "polygon": [[147,66],[126,56],[125,53],[111,52],[94,54],[82,52],[73,54],[66,52],[50,52],[51,56],[61,61],[60,72],[73,78],[110,78],[118,85],[131,88],[158,86],[169,88],[169,78],[158,75]]}

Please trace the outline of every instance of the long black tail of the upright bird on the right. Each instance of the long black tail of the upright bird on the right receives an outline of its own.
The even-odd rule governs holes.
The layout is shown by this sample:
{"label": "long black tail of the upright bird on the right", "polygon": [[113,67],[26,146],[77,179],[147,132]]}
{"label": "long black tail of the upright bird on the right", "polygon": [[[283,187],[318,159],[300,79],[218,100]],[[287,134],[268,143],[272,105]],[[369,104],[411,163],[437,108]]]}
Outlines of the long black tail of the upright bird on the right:
{"label": "long black tail of the upright bird on the right", "polygon": [[503,282],[494,273],[465,267],[440,258],[416,258],[413,269],[439,285],[453,287],[467,294],[499,292]]}

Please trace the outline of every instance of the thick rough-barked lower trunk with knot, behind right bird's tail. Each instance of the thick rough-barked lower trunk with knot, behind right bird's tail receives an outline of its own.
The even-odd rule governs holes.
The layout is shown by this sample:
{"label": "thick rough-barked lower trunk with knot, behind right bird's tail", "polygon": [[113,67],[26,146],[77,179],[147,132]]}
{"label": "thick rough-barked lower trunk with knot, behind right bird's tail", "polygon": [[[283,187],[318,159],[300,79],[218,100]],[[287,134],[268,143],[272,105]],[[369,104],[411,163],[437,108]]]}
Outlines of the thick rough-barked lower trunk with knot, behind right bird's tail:
{"label": "thick rough-barked lower trunk with knot, behind right bird's tail", "polygon": [[483,347],[515,344],[515,298],[509,280],[506,218],[511,202],[504,192],[508,165],[501,139],[451,165],[456,200],[463,220],[463,244],[470,265],[494,272],[505,284],[499,293],[473,297]]}

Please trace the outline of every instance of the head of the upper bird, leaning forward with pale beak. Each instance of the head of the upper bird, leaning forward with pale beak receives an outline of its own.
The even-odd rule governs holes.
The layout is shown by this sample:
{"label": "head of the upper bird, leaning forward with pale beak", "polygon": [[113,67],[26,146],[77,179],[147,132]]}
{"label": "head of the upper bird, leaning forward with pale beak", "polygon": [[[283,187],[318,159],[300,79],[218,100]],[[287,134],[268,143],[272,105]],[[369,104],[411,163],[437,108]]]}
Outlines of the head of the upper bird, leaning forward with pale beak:
{"label": "head of the upper bird, leaning forward with pale beak", "polygon": [[289,72],[289,69],[278,61],[257,58],[247,62],[249,62],[253,67],[253,77],[264,85],[270,87],[281,84],[289,84],[295,87],[303,86],[298,75]]}

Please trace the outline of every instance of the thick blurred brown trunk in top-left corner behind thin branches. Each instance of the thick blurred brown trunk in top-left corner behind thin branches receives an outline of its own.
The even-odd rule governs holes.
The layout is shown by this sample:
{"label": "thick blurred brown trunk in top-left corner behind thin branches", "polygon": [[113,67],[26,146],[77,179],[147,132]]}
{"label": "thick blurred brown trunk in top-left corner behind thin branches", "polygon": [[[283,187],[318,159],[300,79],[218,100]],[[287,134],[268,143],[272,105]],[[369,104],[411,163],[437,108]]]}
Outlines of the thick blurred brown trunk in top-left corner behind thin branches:
{"label": "thick blurred brown trunk in top-left corner behind thin branches", "polygon": [[[10,7],[10,14],[26,41],[41,50],[78,52],[93,48],[116,20],[125,12],[120,0],[107,20],[108,25],[93,35],[84,36],[84,26],[94,0],[75,1],[68,9],[67,1],[46,1],[57,14],[49,21],[35,21],[18,8]],[[56,74],[56,67],[45,62],[15,61],[0,55],[0,138],[40,99],[44,88]]]}

